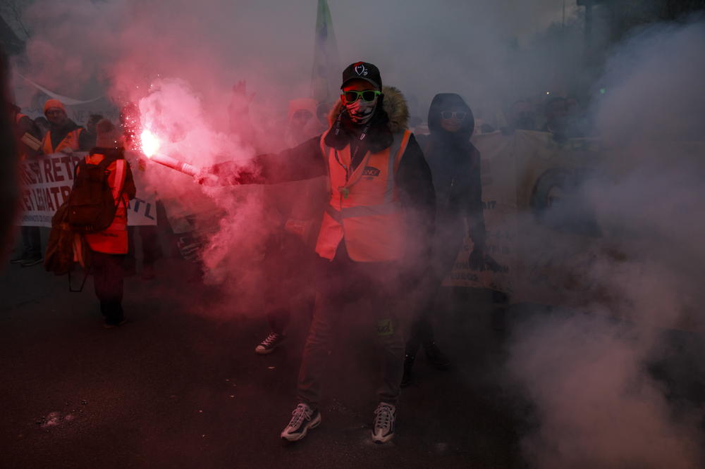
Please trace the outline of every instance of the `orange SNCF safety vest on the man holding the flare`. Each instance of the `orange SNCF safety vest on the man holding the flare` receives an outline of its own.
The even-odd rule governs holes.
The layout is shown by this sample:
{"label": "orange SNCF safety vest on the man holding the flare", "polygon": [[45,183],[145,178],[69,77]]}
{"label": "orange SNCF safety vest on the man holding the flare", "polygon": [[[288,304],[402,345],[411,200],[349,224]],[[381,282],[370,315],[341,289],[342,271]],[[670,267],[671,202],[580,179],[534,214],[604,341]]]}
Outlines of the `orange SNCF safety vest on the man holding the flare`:
{"label": "orange SNCF safety vest on the man holding the flare", "polygon": [[408,130],[397,132],[388,149],[367,153],[347,179],[350,145],[336,150],[326,146],[325,134],[321,137],[331,199],[316,244],[319,256],[332,261],[343,238],[353,261],[386,262],[403,256],[405,226],[394,175],[411,135]]}

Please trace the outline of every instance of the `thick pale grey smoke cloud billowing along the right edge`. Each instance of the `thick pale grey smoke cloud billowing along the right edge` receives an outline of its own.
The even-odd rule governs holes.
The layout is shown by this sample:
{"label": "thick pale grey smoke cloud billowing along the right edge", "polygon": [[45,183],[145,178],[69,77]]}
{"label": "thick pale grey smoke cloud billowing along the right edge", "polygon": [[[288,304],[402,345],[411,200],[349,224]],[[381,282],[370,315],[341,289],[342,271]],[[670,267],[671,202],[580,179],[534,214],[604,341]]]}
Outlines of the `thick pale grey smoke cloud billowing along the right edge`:
{"label": "thick pale grey smoke cloud billowing along the right edge", "polygon": [[676,413],[648,367],[668,356],[664,330],[704,330],[704,39],[704,23],[654,25],[608,61],[594,110],[607,158],[582,191],[613,254],[584,274],[610,294],[589,315],[527,323],[509,361],[537,414],[522,448],[539,468],[702,467],[701,409]]}

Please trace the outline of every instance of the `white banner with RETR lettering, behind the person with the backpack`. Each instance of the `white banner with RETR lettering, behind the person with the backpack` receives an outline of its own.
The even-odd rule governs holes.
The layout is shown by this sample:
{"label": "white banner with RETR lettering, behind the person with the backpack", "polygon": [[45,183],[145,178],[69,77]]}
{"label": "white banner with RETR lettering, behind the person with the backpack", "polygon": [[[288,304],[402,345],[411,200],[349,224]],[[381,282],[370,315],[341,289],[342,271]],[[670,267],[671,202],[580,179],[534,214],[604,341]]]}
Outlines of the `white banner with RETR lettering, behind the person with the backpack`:
{"label": "white banner with RETR lettering, behind the person with the backpack", "polygon": [[[51,217],[68,198],[73,173],[85,152],[55,153],[20,161],[20,225],[51,227]],[[140,194],[128,206],[128,225],[157,225],[154,194]]]}

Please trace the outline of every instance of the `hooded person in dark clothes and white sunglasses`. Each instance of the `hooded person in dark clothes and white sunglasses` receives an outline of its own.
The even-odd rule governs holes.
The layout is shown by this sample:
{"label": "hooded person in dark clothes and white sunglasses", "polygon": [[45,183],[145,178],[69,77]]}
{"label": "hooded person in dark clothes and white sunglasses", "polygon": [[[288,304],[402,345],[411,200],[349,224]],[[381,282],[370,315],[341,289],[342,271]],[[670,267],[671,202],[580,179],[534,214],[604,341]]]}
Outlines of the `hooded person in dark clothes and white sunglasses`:
{"label": "hooded person in dark clothes and white sunglasses", "polygon": [[434,368],[446,370],[450,360],[434,341],[431,318],[443,278],[453,268],[465,237],[465,222],[474,244],[470,268],[484,270],[491,263],[484,254],[485,225],[480,184],[480,154],[470,143],[474,117],[460,95],[440,93],[429,108],[430,135],[419,137],[436,190],[436,232],[428,275],[420,291],[427,296],[407,339],[402,386],[410,384],[416,355],[423,346]]}

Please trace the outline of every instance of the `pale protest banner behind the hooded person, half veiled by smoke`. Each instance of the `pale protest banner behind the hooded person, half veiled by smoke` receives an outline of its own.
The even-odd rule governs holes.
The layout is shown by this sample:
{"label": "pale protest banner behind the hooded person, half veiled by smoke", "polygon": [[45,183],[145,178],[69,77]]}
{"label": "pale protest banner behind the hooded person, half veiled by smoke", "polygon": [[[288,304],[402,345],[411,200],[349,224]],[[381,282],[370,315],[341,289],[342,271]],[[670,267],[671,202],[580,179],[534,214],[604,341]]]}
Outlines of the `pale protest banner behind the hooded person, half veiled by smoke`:
{"label": "pale protest banner behind the hooded person, half veiled by smoke", "polygon": [[558,143],[547,132],[517,131],[477,135],[473,143],[482,155],[486,254],[499,269],[471,270],[467,258],[472,240],[466,237],[445,284],[494,289],[514,303],[569,306],[585,301],[594,292],[589,279],[580,275],[599,249],[599,241],[590,235],[590,220],[555,226],[543,220],[542,211],[567,196],[561,192],[565,178],[596,165],[599,142]]}

